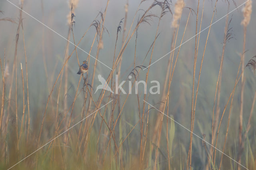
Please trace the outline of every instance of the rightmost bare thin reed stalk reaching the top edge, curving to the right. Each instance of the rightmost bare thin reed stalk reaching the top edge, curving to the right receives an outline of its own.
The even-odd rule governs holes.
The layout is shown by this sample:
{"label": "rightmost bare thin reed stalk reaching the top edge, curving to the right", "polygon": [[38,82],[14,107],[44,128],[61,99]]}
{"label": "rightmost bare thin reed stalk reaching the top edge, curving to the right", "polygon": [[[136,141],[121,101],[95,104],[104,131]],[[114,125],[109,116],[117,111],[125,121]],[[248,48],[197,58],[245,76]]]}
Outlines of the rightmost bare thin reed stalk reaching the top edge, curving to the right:
{"label": "rightmost bare thin reed stalk reaching the top edge, curving to the right", "polygon": [[[202,70],[202,65],[203,65],[203,61],[204,61],[204,54],[205,54],[205,50],[206,50],[206,45],[207,45],[207,42],[208,42],[208,38],[209,38],[209,34],[210,34],[210,30],[211,30],[211,27],[212,27],[212,20],[213,20],[213,17],[214,17],[214,13],[216,11],[216,4],[217,4],[218,0],[216,0],[215,2],[215,5],[214,5],[214,10],[212,12],[212,19],[211,19],[211,22],[210,22],[210,27],[209,27],[209,30],[208,30],[208,34],[207,34],[207,38],[206,38],[206,42],[205,42],[205,45],[204,45],[204,51],[203,51],[203,55],[202,55],[202,60],[201,60],[201,64],[200,64],[200,69],[199,69],[199,76],[198,76],[198,83],[197,83],[197,88],[196,88],[196,97],[195,97],[195,102],[194,102],[194,108],[192,108],[192,120],[191,120],[191,124],[192,124],[192,128],[190,129],[191,133],[190,133],[190,169],[191,169],[191,159],[192,159],[192,139],[193,139],[193,131],[194,131],[194,118],[195,118],[195,111],[196,111],[196,101],[197,101],[197,96],[198,96],[198,88],[199,88],[199,83],[200,83],[200,76],[201,76],[201,70]],[[196,63],[194,63],[196,64]],[[195,70],[194,70],[195,72]],[[194,82],[194,75],[193,75],[193,82]],[[193,96],[194,96],[194,85],[193,85]]]}

